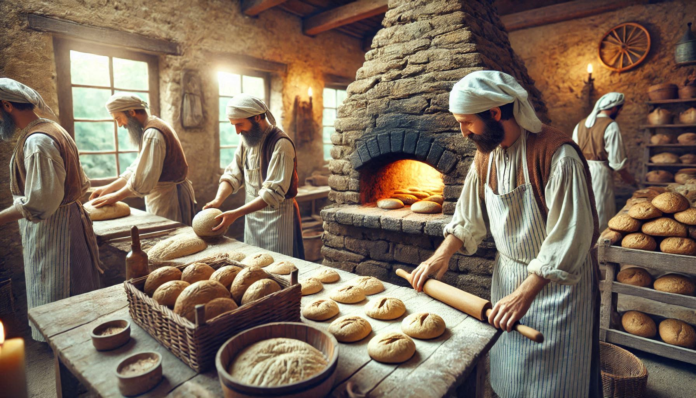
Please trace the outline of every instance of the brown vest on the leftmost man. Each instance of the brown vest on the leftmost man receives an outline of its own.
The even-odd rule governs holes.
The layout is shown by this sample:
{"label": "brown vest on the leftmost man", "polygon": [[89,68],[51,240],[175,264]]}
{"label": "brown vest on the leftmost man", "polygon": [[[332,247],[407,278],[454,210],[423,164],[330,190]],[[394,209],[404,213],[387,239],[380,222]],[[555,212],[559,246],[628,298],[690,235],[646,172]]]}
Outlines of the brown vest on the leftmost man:
{"label": "brown vest on the leftmost man", "polygon": [[27,171],[24,168],[24,144],[27,138],[34,134],[45,134],[50,137],[56,143],[60,157],[63,159],[63,167],[65,168],[65,183],[63,186],[65,192],[61,205],[80,199],[82,196],[82,165],[80,164],[79,151],[75,141],[68,132],[58,123],[48,119],[41,119],[17,141],[13,156],[14,162],[10,165],[12,176],[10,190],[12,194],[24,195],[24,184],[27,176]]}

